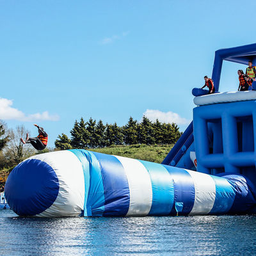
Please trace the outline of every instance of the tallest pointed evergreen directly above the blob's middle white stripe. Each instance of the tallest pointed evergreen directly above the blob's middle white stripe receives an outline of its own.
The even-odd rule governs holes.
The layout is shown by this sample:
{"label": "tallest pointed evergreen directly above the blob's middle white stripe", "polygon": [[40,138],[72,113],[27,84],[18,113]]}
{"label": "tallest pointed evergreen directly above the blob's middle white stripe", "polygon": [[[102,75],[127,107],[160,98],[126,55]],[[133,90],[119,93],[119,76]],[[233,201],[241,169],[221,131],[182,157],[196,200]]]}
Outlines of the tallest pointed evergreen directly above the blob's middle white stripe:
{"label": "tallest pointed evergreen directly above the blob's middle white stripe", "polygon": [[124,143],[134,145],[138,143],[138,122],[129,118],[128,123],[123,127]]}

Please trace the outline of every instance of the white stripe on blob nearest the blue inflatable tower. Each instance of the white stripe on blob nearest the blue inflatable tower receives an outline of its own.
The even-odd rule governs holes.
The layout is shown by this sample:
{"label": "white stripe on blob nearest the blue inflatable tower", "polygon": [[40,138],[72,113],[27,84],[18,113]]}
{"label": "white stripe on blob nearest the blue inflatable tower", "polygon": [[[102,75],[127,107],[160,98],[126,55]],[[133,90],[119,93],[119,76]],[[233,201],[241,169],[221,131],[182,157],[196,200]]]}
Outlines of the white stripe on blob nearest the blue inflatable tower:
{"label": "white stripe on blob nearest the blue inflatable tower", "polygon": [[208,214],[215,201],[216,186],[210,175],[186,170],[195,184],[195,203],[189,215]]}

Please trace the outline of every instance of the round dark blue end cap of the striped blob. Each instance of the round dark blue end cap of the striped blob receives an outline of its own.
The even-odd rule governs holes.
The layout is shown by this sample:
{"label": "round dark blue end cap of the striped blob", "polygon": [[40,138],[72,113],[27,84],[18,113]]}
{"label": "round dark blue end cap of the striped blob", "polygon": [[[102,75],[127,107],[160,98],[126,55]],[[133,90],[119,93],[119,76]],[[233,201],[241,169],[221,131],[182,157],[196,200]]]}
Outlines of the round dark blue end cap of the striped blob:
{"label": "round dark blue end cap of the striped blob", "polygon": [[34,216],[54,203],[59,188],[58,177],[49,164],[28,159],[12,170],[4,191],[14,212],[19,216]]}

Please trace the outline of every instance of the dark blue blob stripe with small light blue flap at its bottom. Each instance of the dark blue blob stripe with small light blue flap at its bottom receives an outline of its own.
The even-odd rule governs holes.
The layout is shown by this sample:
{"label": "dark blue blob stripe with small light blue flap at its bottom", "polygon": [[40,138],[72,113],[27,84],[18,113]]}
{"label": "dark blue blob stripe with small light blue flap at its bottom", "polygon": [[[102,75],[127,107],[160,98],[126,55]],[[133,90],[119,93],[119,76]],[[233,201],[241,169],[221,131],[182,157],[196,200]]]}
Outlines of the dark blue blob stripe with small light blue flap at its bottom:
{"label": "dark blue blob stripe with small light blue flap at its bottom", "polygon": [[[187,215],[195,203],[195,185],[191,175],[184,169],[163,165],[171,175],[174,185],[174,202],[182,202],[183,209],[179,214]],[[176,214],[175,204],[170,214]]]}

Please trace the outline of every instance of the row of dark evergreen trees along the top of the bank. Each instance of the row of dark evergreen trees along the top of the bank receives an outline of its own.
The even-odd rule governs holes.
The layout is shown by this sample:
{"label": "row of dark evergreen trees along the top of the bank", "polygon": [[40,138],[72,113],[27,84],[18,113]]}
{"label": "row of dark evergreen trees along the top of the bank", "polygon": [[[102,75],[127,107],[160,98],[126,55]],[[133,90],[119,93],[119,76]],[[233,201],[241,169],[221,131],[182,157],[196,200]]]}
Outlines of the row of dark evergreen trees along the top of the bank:
{"label": "row of dark evergreen trees along the top of the bank", "polygon": [[141,122],[132,117],[124,126],[116,123],[104,125],[102,120],[96,122],[90,118],[87,122],[81,118],[74,123],[70,131],[71,138],[61,134],[55,141],[55,147],[60,150],[70,148],[104,148],[111,145],[135,145],[135,144],[173,144],[182,132],[177,124],[163,124],[156,120],[150,120],[143,116]]}

